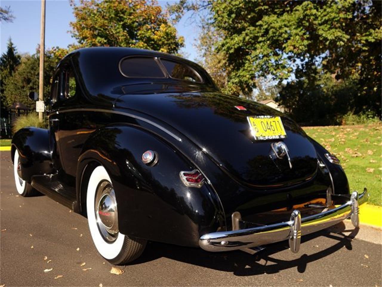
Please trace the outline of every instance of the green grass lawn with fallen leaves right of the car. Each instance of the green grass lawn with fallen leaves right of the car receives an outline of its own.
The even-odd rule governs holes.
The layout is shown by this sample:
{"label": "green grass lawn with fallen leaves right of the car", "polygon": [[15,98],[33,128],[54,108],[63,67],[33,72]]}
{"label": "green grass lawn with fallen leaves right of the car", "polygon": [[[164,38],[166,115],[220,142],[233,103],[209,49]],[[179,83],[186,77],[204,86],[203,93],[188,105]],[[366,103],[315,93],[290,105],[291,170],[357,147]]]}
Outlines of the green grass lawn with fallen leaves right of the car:
{"label": "green grass lawn with fallen leaves right of the car", "polygon": [[305,132],[341,160],[351,190],[370,192],[382,205],[382,125],[304,127]]}

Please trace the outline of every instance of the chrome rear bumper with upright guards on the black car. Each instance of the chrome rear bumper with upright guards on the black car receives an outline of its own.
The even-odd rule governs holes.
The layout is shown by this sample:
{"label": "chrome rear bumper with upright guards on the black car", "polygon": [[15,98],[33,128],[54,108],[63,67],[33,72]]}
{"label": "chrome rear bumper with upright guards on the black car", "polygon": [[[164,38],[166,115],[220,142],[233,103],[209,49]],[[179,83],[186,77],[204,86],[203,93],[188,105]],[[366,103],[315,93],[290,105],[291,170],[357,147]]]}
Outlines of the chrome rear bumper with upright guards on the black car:
{"label": "chrome rear bumper with upright guards on the black car", "polygon": [[365,188],[361,194],[354,191],[345,204],[321,213],[301,218],[300,212],[294,210],[289,221],[247,229],[238,229],[240,213],[234,212],[233,230],[205,234],[199,239],[199,246],[214,252],[237,249],[247,251],[251,247],[289,240],[291,251],[296,253],[299,251],[301,235],[325,229],[349,217],[353,225],[358,227],[358,206],[366,202],[368,197],[369,192]]}

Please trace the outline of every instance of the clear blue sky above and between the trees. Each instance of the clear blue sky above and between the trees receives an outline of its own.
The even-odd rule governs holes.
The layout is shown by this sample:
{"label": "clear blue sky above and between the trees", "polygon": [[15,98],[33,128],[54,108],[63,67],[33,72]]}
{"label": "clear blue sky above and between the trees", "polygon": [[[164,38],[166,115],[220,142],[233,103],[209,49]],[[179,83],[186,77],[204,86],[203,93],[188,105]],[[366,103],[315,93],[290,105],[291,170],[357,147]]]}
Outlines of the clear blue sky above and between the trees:
{"label": "clear blue sky above and between the trees", "polygon": [[[158,1],[164,9],[167,2]],[[13,0],[1,1],[1,7],[10,6],[16,17],[13,23],[1,23],[1,53],[6,51],[6,43],[11,37],[19,53],[36,52],[40,42],[40,14],[41,2],[39,0]],[[45,48],[59,46],[67,47],[76,42],[71,38],[69,22],[74,21],[72,8],[68,0],[47,0],[45,8]],[[194,40],[199,34],[195,24],[190,24],[187,17],[176,24],[178,35],[185,38],[185,48],[181,52],[189,60],[197,57],[193,47]]]}

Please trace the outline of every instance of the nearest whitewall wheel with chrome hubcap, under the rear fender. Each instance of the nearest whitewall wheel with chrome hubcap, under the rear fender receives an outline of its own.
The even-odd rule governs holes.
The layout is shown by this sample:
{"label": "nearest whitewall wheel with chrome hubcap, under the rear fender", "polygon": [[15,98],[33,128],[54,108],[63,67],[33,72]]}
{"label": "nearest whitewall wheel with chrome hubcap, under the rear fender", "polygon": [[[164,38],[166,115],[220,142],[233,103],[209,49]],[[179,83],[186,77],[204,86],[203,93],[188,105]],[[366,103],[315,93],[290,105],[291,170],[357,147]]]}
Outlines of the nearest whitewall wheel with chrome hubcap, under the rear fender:
{"label": "nearest whitewall wheel with chrome hubcap, under the rear fender", "polygon": [[123,265],[142,254],[146,240],[119,232],[117,200],[112,181],[103,166],[97,166],[89,178],[86,210],[94,245],[107,261]]}

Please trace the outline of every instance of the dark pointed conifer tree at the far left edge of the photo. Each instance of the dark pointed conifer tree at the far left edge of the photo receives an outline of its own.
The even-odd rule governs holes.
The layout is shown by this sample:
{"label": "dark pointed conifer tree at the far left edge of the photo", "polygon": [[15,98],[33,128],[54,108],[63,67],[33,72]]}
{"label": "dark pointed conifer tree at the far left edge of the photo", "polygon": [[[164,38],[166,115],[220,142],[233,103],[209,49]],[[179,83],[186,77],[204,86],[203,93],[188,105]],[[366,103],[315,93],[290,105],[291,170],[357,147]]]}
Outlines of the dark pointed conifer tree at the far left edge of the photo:
{"label": "dark pointed conifer tree at the far left edge of the photo", "polygon": [[7,105],[4,96],[6,81],[13,75],[16,67],[20,64],[20,55],[17,54],[16,47],[12,42],[12,39],[8,39],[6,52],[2,54],[0,58],[0,113],[2,117],[7,115]]}

